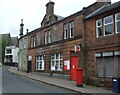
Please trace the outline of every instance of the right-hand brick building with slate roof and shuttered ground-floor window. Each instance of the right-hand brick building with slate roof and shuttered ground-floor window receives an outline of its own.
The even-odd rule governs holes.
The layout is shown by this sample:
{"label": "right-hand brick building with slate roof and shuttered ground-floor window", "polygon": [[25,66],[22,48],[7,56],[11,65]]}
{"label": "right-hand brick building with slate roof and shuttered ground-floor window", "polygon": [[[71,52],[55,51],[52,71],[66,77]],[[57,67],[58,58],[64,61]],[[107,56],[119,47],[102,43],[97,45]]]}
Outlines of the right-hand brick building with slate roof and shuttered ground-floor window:
{"label": "right-hand brick building with slate roof and shuttered ground-floor window", "polygon": [[85,25],[89,83],[111,88],[111,78],[120,77],[120,2],[88,15]]}

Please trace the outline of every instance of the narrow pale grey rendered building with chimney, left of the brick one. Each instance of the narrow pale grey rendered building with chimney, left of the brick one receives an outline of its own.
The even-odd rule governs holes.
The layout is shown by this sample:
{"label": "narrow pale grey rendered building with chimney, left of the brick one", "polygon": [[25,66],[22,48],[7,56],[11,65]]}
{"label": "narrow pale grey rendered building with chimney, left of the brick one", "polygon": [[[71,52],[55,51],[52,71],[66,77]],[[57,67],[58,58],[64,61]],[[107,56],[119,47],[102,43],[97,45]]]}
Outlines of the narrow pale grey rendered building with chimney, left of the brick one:
{"label": "narrow pale grey rendered building with chimney, left of the brick one", "polygon": [[[28,36],[23,35],[24,24],[21,19],[20,24],[20,38],[19,38],[19,52],[18,52],[18,70],[27,72],[28,68]],[[28,33],[28,30],[27,30]]]}

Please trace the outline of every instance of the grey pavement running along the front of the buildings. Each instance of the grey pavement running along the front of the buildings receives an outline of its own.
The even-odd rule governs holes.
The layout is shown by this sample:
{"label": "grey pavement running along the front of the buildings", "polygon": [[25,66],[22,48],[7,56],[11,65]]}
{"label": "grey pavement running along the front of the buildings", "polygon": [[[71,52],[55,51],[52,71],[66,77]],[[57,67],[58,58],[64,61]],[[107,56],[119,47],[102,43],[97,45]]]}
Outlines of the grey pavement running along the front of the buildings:
{"label": "grey pavement running along the front of the buildings", "polygon": [[114,93],[111,90],[106,90],[104,88],[95,87],[91,85],[88,86],[84,84],[83,87],[77,87],[76,81],[70,81],[67,78],[51,77],[50,75],[43,75],[40,73],[26,73],[26,72],[18,71],[16,67],[9,68],[9,71],[14,74],[21,75],[36,81],[40,81],[57,87],[66,88],[79,93],[86,93],[92,95],[96,95],[96,94],[120,95],[119,93]]}

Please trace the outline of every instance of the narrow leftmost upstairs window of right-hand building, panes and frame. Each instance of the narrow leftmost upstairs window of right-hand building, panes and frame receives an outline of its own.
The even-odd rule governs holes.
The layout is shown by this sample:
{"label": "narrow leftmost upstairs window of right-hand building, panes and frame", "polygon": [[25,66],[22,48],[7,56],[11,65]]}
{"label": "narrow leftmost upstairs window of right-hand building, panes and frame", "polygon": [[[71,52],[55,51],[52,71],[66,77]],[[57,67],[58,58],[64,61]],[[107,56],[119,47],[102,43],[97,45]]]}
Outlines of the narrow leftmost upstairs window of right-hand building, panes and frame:
{"label": "narrow leftmost upstairs window of right-hand building, panes and frame", "polygon": [[102,36],[102,19],[96,21],[96,36],[97,38]]}

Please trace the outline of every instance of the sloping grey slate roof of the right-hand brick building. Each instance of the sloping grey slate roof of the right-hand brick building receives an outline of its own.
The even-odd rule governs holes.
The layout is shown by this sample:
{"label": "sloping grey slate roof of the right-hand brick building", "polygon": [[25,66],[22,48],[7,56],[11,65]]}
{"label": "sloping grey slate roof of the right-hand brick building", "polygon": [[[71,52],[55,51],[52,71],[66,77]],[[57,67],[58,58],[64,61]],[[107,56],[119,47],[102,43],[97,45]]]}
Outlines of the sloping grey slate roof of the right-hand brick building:
{"label": "sloping grey slate roof of the right-hand brick building", "polygon": [[102,13],[107,12],[109,10],[115,9],[117,7],[120,7],[120,1],[116,2],[116,3],[113,3],[113,4],[104,5],[103,7],[99,8],[96,11],[94,11],[90,15],[86,16],[86,19],[89,19],[89,18],[94,17],[96,15],[102,14]]}

